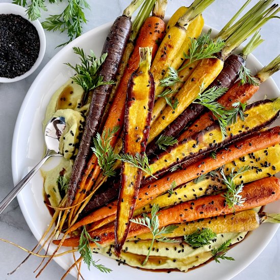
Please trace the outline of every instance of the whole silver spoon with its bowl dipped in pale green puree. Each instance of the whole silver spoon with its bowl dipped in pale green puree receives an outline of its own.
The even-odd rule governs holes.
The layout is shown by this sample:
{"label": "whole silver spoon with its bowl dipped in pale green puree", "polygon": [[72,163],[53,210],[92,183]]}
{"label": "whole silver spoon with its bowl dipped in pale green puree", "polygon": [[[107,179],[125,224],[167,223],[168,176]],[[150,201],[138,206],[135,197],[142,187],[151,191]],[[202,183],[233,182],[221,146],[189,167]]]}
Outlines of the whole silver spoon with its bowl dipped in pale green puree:
{"label": "whole silver spoon with its bowl dipped in pale green puree", "polygon": [[22,188],[30,181],[34,174],[40,169],[45,161],[51,156],[62,156],[59,152],[59,139],[65,129],[64,117],[52,118],[46,125],[45,144],[47,147],[46,155],[33,169],[13,188],[7,197],[0,203],[0,214],[12,202]]}

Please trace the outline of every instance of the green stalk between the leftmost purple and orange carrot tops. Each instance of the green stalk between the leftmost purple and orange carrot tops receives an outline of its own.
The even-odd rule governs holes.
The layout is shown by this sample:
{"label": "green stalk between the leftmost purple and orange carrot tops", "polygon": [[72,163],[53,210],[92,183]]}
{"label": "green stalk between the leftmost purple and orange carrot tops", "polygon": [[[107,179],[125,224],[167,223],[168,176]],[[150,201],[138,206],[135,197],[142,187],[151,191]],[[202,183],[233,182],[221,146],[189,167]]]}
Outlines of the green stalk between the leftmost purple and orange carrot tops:
{"label": "green stalk between the leftmost purple and orange carrot tops", "polygon": [[149,17],[156,0],[145,0],[143,6],[141,7],[139,13],[137,14],[135,20],[132,23],[131,34],[129,37],[130,42],[134,42],[141,26],[144,21]]}

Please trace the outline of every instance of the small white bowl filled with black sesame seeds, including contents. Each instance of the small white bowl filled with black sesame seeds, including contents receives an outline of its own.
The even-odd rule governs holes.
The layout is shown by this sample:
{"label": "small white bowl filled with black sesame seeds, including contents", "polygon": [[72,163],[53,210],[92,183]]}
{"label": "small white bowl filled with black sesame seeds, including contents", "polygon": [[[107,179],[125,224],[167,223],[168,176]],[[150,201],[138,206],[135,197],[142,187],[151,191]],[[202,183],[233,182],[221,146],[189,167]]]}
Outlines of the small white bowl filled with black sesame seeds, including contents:
{"label": "small white bowl filled with black sesame seeds, including contents", "polygon": [[30,21],[24,7],[0,3],[0,82],[14,82],[32,74],[45,49],[40,21]]}

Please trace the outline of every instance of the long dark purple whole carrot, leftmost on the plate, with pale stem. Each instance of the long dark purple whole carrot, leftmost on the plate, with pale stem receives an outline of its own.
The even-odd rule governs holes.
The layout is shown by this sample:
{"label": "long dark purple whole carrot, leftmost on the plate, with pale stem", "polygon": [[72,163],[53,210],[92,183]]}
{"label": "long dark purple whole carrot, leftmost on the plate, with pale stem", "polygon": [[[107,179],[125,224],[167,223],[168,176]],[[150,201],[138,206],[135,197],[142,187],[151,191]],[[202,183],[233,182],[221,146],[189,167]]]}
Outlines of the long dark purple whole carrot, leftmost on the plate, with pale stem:
{"label": "long dark purple whole carrot, leftmost on the plate, with pale stem", "polygon": [[[131,16],[142,2],[143,0],[133,0],[124,10],[123,15],[118,17],[111,27],[102,49],[102,54],[107,53],[107,57],[99,71],[99,75],[103,76],[104,81],[115,80],[116,78],[117,70],[131,31]],[[100,121],[112,89],[113,85],[103,85],[96,88],[93,92],[85,130],[82,134],[69,182],[67,206],[70,206],[73,200],[75,200],[76,188],[82,176],[83,169],[87,164],[92,138],[95,137],[99,129]]]}

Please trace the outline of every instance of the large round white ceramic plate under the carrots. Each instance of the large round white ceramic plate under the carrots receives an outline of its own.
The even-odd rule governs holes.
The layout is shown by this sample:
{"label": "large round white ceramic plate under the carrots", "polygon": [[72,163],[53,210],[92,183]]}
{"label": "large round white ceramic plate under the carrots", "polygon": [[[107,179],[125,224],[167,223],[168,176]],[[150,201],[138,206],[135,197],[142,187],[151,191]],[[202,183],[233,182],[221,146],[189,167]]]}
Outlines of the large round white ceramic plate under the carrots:
{"label": "large round white ceramic plate under the carrots", "polygon": [[[12,170],[15,184],[27,173],[30,167],[34,166],[41,159],[44,147],[42,121],[44,119],[46,106],[55,90],[73,75],[69,67],[63,63],[70,62],[74,64],[78,62],[76,55],[73,55],[72,47],[82,47],[86,52],[93,49],[94,52],[99,55],[110,26],[111,23],[107,23],[97,27],[68,44],[49,61],[33,82],[20,108],[14,130]],[[209,27],[205,26],[204,32],[207,32],[208,29]],[[216,31],[213,31],[212,34],[215,35]],[[262,68],[262,65],[253,55],[249,55],[247,67],[255,73],[256,70]],[[254,99],[263,99],[265,94],[267,94],[268,98],[280,95],[279,90],[271,78],[263,83]],[[279,124],[278,122],[278,125]],[[56,164],[56,161],[49,160],[45,169],[54,166],[54,164]],[[37,240],[41,238],[50,221],[49,212],[43,203],[42,188],[43,180],[39,172],[18,195],[18,202],[22,213]],[[266,206],[265,210],[270,213],[275,213],[279,212],[279,207],[280,201]],[[96,280],[126,280],[131,279],[131,277],[133,277],[134,280],[147,278],[179,280],[186,279],[186,277],[188,280],[197,280],[205,277],[205,275],[207,275],[208,279],[230,279],[258,257],[277,229],[277,225],[264,224],[251,233],[240,244],[234,246],[230,250],[230,255],[235,258],[235,262],[222,261],[222,265],[210,262],[205,266],[187,272],[187,274],[183,272],[172,272],[171,274],[164,272],[153,273],[150,271],[137,270],[127,265],[118,266],[115,260],[101,255],[95,255],[95,258],[97,260],[100,258],[100,263],[113,269],[113,272],[105,274],[94,268],[88,271],[87,267],[82,265],[81,273],[86,279],[92,279],[94,277]],[[50,251],[53,249],[54,246],[51,245]],[[64,269],[68,269],[72,264],[72,256],[55,258],[55,261]],[[73,269],[71,273],[76,276],[75,269]]]}

